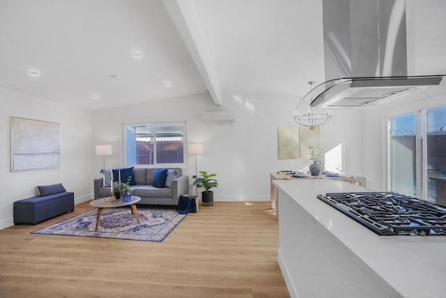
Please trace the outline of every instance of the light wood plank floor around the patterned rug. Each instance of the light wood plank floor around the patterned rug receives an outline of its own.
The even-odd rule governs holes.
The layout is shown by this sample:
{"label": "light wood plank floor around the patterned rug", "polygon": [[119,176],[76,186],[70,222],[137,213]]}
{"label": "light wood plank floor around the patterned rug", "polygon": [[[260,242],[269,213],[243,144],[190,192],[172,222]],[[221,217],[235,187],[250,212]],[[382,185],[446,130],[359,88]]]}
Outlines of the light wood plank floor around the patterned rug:
{"label": "light wood plank floor around the patterned rug", "polygon": [[0,230],[0,297],[289,297],[277,265],[269,202],[215,202],[188,214],[164,242]]}

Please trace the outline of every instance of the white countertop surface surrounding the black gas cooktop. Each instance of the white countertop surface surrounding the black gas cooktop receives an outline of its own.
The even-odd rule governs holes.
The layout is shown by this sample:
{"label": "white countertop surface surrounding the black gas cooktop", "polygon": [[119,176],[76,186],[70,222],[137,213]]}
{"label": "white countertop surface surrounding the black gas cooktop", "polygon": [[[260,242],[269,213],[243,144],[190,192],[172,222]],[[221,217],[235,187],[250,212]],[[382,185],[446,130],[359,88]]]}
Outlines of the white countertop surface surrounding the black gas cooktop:
{"label": "white countertop surface surrounding the black gas cooktop", "polygon": [[316,198],[371,189],[330,180],[274,183],[403,297],[446,297],[446,236],[379,236]]}

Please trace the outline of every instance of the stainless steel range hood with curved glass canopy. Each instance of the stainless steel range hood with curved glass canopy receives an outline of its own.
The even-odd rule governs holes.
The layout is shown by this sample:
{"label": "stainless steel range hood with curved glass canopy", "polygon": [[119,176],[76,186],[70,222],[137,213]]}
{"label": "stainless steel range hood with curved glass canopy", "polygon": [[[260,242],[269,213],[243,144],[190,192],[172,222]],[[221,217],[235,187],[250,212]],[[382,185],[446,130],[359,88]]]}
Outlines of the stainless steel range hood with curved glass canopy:
{"label": "stainless steel range hood with curved glass canopy", "polygon": [[327,81],[311,91],[312,107],[364,107],[446,84],[408,75],[405,0],[323,0],[323,36]]}

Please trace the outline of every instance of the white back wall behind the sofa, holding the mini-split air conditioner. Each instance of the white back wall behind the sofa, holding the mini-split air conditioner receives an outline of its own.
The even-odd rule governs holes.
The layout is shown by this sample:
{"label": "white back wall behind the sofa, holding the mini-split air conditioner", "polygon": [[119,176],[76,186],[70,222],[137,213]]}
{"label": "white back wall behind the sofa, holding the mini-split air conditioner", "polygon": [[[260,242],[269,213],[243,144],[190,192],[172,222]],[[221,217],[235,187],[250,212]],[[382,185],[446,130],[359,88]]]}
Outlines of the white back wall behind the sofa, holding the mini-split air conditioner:
{"label": "white back wall behind the sofa, holding the mini-split air conditioner", "polygon": [[[187,121],[187,140],[203,143],[198,155],[199,171],[217,173],[215,201],[269,201],[270,173],[285,170],[289,159],[277,158],[277,127],[296,125],[293,120],[297,98],[266,95],[223,95],[216,107],[205,94],[136,104],[93,112],[93,145],[111,143],[112,157],[106,167],[121,162],[121,123]],[[236,111],[236,123],[203,123],[202,111]],[[333,111],[332,123],[321,127],[323,148],[344,143],[346,173],[362,175],[362,111]],[[308,159],[293,160],[293,167]],[[93,161],[93,176],[100,178],[102,159]],[[194,175],[194,156],[187,156],[185,175]]]}

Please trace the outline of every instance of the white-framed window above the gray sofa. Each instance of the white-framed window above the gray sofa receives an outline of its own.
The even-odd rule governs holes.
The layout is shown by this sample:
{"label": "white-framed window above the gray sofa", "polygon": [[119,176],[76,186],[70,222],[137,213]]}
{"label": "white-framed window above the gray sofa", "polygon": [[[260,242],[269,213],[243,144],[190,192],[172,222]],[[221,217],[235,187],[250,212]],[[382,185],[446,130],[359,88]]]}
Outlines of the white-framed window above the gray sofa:
{"label": "white-framed window above the gray sofa", "polygon": [[184,165],[185,123],[124,125],[125,164]]}

